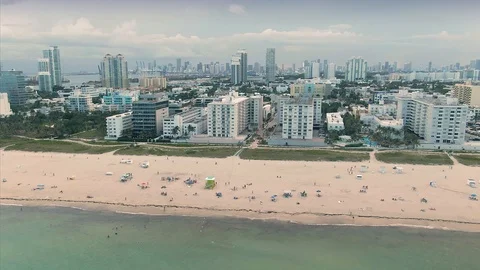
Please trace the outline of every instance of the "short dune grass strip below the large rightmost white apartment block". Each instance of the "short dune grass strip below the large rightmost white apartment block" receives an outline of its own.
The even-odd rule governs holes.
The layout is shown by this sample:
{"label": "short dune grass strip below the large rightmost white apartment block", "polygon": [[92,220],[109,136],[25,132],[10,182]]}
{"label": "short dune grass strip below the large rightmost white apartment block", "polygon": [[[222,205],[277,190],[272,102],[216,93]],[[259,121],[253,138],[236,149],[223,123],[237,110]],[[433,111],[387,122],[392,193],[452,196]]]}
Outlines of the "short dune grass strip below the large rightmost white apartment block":
{"label": "short dune grass strip below the large rightmost white apartment block", "polygon": [[375,153],[375,157],[385,163],[415,165],[453,165],[445,153],[392,151]]}

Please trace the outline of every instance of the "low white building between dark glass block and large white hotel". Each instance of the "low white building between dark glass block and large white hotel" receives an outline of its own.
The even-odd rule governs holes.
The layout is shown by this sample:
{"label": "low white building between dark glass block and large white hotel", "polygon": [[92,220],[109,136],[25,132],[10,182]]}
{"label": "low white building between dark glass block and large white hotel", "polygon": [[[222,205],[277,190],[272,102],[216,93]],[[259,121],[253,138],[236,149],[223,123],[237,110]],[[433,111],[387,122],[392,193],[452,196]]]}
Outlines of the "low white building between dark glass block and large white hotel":
{"label": "low white building between dark glass block and large white hotel", "polygon": [[173,138],[201,134],[206,129],[206,115],[206,108],[192,108],[169,116],[163,120],[163,136]]}

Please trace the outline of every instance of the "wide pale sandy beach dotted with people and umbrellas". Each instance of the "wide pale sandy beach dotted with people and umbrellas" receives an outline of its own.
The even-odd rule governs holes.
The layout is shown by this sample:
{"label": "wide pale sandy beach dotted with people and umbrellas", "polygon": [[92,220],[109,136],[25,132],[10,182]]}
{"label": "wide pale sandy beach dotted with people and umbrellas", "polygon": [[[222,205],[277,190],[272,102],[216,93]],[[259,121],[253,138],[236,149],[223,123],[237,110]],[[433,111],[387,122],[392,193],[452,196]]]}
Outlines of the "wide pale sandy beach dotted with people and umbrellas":
{"label": "wide pale sandy beach dotted with people and umbrellas", "polygon": [[[7,180],[0,182],[2,204],[480,232],[480,201],[469,200],[478,188],[467,185],[473,178],[480,187],[478,167],[397,165],[399,171],[374,159],[348,163],[3,150],[0,154],[0,178]],[[143,162],[149,167],[142,168]],[[121,182],[125,173],[132,173],[133,179]],[[217,182],[213,190],[205,189],[209,176]],[[184,183],[187,178],[197,183],[189,186]],[[148,188],[142,189],[142,183]],[[36,189],[38,185],[44,188]],[[285,198],[285,191],[292,197]],[[306,197],[300,195],[303,191]]]}

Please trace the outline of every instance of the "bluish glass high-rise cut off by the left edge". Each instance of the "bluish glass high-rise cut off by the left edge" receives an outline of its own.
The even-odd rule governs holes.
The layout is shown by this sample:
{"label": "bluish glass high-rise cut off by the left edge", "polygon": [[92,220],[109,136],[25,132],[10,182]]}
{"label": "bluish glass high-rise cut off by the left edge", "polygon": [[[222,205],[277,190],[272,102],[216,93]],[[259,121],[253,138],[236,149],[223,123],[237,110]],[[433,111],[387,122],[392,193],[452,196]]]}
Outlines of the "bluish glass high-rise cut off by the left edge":
{"label": "bluish glass high-rise cut off by the left edge", "polygon": [[10,105],[25,105],[28,99],[25,86],[25,76],[22,71],[0,71],[0,93],[8,94]]}

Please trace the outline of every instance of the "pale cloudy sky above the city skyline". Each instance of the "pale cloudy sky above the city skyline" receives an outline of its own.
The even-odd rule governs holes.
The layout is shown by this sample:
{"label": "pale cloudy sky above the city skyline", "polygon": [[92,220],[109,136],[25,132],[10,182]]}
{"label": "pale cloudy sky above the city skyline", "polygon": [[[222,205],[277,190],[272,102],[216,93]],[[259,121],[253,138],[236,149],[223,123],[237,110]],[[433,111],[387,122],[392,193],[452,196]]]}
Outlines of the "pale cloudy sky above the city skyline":
{"label": "pale cloudy sky above the city skyline", "polygon": [[64,72],[96,71],[107,53],[135,61],[229,62],[237,49],[286,67],[362,56],[414,68],[480,58],[478,0],[0,0],[3,69],[34,73],[57,45]]}

